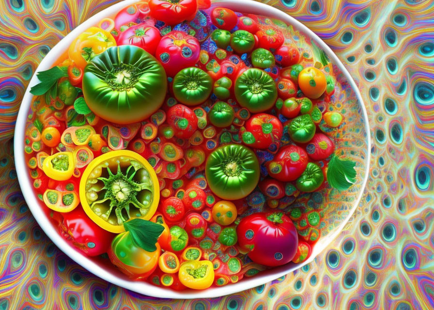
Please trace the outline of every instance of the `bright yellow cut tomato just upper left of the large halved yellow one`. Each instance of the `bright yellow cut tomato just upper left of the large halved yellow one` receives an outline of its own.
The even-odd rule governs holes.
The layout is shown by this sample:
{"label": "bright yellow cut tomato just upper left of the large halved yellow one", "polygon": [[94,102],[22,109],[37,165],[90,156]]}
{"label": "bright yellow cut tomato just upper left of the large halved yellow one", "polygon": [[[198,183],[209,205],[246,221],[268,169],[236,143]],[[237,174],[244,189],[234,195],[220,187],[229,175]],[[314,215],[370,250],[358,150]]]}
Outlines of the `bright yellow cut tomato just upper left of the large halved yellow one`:
{"label": "bright yellow cut tomato just upper left of the large halved yellow one", "polygon": [[59,152],[48,156],[42,163],[42,170],[47,177],[56,181],[65,181],[74,172],[74,157],[72,152]]}

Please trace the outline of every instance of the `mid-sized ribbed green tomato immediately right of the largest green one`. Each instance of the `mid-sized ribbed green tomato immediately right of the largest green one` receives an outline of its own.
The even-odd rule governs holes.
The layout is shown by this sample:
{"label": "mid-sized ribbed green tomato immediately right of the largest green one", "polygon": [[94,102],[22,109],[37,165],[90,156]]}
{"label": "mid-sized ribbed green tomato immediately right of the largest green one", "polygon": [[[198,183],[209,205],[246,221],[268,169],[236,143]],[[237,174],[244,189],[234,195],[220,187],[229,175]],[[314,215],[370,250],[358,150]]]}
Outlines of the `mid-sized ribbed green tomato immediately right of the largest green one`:
{"label": "mid-sized ribbed green tomato immediately right of the largest green one", "polygon": [[197,106],[208,99],[213,88],[213,79],[197,67],[179,71],[173,78],[175,98],[187,106]]}

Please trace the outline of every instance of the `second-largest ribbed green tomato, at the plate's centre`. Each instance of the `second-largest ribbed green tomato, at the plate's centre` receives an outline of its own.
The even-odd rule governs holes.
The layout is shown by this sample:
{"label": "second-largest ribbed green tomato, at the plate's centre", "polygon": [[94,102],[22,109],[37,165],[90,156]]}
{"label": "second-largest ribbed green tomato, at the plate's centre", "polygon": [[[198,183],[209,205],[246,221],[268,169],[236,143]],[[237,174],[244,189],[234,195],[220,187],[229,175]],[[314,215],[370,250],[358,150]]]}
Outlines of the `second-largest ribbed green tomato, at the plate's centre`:
{"label": "second-largest ribbed green tomato, at the plate's centre", "polygon": [[246,197],[259,182],[259,162],[255,153],[242,144],[226,144],[206,160],[205,176],[218,197],[236,200]]}

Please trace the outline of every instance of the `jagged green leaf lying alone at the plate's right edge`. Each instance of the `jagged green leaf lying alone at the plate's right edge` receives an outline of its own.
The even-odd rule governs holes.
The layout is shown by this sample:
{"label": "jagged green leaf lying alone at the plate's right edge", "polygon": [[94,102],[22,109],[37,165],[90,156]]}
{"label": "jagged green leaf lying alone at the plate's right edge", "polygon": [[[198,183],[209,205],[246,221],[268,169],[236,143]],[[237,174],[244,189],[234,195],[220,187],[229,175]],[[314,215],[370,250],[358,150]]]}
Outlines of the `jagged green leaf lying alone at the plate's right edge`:
{"label": "jagged green leaf lying alone at the plate's right edge", "polygon": [[356,162],[333,155],[327,168],[327,181],[331,187],[346,190],[356,182]]}

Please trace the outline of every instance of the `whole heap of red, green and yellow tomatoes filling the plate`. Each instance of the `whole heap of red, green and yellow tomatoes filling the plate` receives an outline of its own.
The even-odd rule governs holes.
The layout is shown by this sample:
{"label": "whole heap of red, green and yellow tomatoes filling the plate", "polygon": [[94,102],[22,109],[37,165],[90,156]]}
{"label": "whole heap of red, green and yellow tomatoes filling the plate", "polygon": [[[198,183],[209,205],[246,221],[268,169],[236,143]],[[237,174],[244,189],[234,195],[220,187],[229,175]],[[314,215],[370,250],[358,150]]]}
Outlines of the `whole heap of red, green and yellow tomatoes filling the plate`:
{"label": "whole heap of red, green and yellow tomatoes filling the plate", "polygon": [[290,205],[326,186],[342,116],[327,110],[331,64],[288,33],[207,0],[149,0],[80,34],[32,89],[25,140],[64,238],[175,290],[305,261],[322,212]]}

